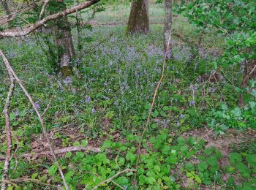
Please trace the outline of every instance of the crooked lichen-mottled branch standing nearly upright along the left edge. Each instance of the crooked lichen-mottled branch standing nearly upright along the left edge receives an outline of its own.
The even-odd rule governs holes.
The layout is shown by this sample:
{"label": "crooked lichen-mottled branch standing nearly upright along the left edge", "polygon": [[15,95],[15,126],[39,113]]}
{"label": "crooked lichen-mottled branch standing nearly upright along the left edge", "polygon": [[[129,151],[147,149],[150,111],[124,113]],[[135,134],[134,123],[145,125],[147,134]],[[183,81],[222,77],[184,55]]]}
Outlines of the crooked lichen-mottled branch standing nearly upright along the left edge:
{"label": "crooked lichen-mottled branch standing nearly upright along the left edge", "polygon": [[[1,56],[4,58],[4,61],[7,61],[7,58],[2,55],[0,50]],[[6,103],[4,105],[4,116],[5,116],[5,131],[7,136],[7,152],[6,152],[6,158],[4,161],[4,170],[2,175],[3,182],[1,183],[1,190],[5,190],[7,188],[7,183],[4,182],[4,180],[8,179],[8,172],[10,169],[10,161],[11,161],[11,155],[12,155],[12,132],[10,128],[10,102],[12,99],[13,91],[15,88],[15,78],[12,75],[12,72],[8,70],[8,75],[10,77],[10,90],[7,95]]]}

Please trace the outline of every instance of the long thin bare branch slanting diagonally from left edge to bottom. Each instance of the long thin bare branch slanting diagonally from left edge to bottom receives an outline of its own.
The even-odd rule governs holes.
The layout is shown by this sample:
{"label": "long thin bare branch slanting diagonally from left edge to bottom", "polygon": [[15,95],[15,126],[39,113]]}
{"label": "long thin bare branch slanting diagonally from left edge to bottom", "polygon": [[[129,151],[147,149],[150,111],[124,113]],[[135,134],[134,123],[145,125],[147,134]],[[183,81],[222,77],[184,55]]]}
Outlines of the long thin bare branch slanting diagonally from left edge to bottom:
{"label": "long thin bare branch slanting diagonally from left edge to bottom", "polygon": [[18,78],[18,76],[16,75],[16,73],[14,72],[14,70],[12,69],[12,66],[10,65],[9,61],[7,60],[6,56],[4,55],[4,53],[3,53],[1,50],[0,50],[0,54],[1,54],[1,56],[3,57],[3,59],[4,59],[4,64],[5,64],[6,68],[7,68],[7,71],[10,72],[10,73],[13,75],[13,77],[15,78],[15,80],[17,81],[17,83],[19,84],[20,88],[23,90],[24,94],[26,94],[27,98],[29,99],[29,102],[31,102],[31,104],[32,104],[32,106],[33,106],[35,112],[37,113],[37,117],[39,118],[39,122],[41,123],[41,126],[42,126],[42,132],[43,132],[43,134],[45,135],[45,139],[47,140],[48,145],[49,145],[50,153],[51,153],[52,156],[53,156],[53,161],[56,162],[56,165],[57,165],[57,167],[58,167],[58,169],[59,169],[59,172],[60,172],[60,175],[61,175],[61,178],[62,178],[62,180],[63,180],[63,183],[64,183],[65,188],[66,188],[67,190],[69,190],[69,187],[67,186],[67,182],[66,182],[66,180],[65,180],[65,178],[64,178],[64,174],[63,174],[63,172],[62,172],[62,170],[61,170],[61,166],[59,165],[58,159],[57,159],[57,157],[56,157],[56,155],[55,155],[55,153],[54,153],[54,151],[53,151],[52,146],[50,145],[50,138],[48,137],[48,133],[47,133],[47,130],[46,130],[46,128],[45,128],[45,124],[44,124],[44,122],[43,122],[43,120],[42,120],[42,116],[40,115],[39,111],[37,110],[37,107],[36,107],[36,105],[34,104],[34,101],[33,101],[32,97],[30,96],[29,92],[26,91],[26,88],[25,88],[25,87],[23,86],[23,84],[21,83],[20,79]]}

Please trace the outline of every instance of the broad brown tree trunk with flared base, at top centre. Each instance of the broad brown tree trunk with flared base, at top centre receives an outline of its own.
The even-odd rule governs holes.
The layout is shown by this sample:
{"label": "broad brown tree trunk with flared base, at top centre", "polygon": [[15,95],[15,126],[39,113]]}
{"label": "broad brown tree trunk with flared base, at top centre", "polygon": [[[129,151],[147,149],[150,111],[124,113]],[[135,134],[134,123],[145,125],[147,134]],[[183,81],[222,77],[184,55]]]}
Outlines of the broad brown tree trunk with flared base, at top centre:
{"label": "broad brown tree trunk with flared base, at top centre", "polygon": [[144,34],[149,32],[148,0],[132,1],[127,33],[133,34],[138,32]]}

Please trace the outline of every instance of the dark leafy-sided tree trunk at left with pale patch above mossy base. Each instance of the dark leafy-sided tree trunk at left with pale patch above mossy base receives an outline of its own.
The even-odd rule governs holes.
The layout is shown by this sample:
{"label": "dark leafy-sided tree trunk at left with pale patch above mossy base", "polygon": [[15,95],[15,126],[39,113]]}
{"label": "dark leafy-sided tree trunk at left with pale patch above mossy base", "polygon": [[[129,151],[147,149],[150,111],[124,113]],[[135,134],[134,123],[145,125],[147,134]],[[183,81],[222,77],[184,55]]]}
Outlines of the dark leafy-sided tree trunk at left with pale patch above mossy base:
{"label": "dark leafy-sided tree trunk at left with pale patch above mossy base", "polygon": [[[56,9],[58,11],[64,10],[66,6],[62,2],[59,2],[58,8]],[[67,77],[71,75],[71,62],[75,58],[71,28],[67,17],[57,19],[54,24],[53,38],[59,60],[58,72],[61,72],[64,77]]]}

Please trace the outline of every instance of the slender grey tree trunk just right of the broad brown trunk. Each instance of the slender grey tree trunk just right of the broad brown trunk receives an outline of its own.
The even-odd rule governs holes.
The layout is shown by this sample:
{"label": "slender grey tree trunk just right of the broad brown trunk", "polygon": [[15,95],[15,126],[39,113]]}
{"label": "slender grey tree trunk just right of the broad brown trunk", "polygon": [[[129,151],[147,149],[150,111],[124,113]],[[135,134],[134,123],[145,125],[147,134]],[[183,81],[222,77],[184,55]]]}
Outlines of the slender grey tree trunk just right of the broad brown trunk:
{"label": "slender grey tree trunk just right of the broad brown trunk", "polygon": [[[170,38],[170,30],[172,26],[172,0],[165,0],[165,27],[164,27],[164,50],[167,52],[168,42]],[[170,55],[171,48],[169,45],[168,54]]]}

